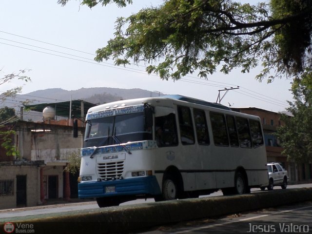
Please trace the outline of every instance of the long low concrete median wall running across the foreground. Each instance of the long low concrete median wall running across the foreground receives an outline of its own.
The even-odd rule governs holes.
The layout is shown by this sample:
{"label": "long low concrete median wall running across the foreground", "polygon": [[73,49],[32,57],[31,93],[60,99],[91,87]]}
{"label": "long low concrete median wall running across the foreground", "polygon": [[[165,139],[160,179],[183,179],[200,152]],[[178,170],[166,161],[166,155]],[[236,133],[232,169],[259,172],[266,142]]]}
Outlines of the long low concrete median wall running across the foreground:
{"label": "long low concrete median wall running across the foreground", "polygon": [[[122,233],[312,200],[312,188],[193,198],[93,210],[0,219],[33,224],[36,233]],[[4,223],[0,226],[2,229]],[[15,225],[17,226],[17,225]]]}

